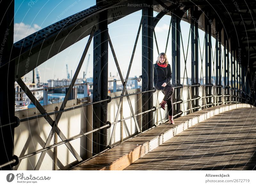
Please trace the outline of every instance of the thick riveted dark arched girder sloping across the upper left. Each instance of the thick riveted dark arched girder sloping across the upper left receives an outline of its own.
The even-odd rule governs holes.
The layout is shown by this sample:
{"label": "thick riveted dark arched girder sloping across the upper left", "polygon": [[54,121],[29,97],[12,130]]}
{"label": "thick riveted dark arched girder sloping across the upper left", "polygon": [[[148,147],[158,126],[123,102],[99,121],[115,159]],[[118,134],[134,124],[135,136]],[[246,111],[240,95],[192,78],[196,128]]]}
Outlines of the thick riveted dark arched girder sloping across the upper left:
{"label": "thick riveted dark arched girder sloping across the upper left", "polygon": [[[140,3],[146,4],[146,1],[141,0]],[[141,7],[127,7],[127,4],[138,4],[138,1],[121,0],[119,3],[109,2],[102,6],[92,6],[68,18],[52,23],[52,25],[14,43],[12,53],[9,55],[10,60],[9,58],[3,59],[3,65],[6,65],[9,61],[15,63],[15,78],[21,78],[26,72],[32,71],[52,56],[90,35],[93,26],[98,30],[102,11],[108,12],[107,21],[110,24],[141,10]],[[30,64],[27,68],[28,58]]]}

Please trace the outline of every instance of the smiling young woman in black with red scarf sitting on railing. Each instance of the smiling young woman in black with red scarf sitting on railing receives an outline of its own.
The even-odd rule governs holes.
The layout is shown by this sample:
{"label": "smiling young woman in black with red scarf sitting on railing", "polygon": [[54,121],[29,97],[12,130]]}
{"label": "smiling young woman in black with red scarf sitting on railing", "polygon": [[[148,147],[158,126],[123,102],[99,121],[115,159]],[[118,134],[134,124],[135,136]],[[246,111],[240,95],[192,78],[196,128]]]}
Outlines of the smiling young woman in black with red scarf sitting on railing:
{"label": "smiling young woman in black with red scarf sitting on railing", "polygon": [[174,93],[174,88],[170,82],[171,79],[171,65],[168,64],[166,54],[160,53],[157,58],[156,64],[154,64],[154,86],[156,90],[162,90],[162,92],[164,93],[164,99],[159,105],[165,110],[165,104],[167,103],[169,121],[171,124],[174,124],[172,105],[172,94]]}

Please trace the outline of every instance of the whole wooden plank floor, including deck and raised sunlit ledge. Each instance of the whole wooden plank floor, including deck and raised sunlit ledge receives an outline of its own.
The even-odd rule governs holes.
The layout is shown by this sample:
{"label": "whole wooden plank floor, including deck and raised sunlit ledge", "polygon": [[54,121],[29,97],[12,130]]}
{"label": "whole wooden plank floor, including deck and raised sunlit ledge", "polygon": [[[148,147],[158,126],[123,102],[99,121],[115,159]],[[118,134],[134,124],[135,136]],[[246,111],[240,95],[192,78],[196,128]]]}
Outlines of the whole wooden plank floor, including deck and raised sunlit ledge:
{"label": "whole wooden plank floor, including deck and raised sunlit ledge", "polygon": [[[241,106],[248,105],[234,104],[212,107],[180,117],[174,120],[175,125],[168,123],[159,125],[85,161],[74,169],[122,170],[125,167],[127,170],[131,169],[130,167],[136,167],[136,169],[140,167],[141,169],[141,166],[134,166],[134,164],[142,156],[146,159],[143,160],[142,157],[138,162],[146,165],[146,169],[143,168],[145,170],[147,168],[165,170],[173,162],[176,164],[173,168],[178,170],[221,169],[223,167],[225,169],[243,169],[242,165],[246,164],[247,160],[254,160],[250,156],[253,154],[255,143],[250,144],[250,142],[256,134],[253,123],[255,120],[248,119],[246,114],[241,115],[241,109],[221,113]],[[256,109],[252,108],[244,109],[243,112],[250,113],[248,111],[251,113],[253,111],[256,114]],[[216,113],[220,114],[213,116]],[[243,118],[240,122],[237,122],[238,115]],[[212,117],[209,118],[210,116]],[[208,119],[204,120],[205,118]],[[198,123],[199,121],[202,123]],[[194,125],[195,123],[197,124]],[[238,136],[239,140],[237,140]],[[165,143],[162,144],[163,142]],[[177,163],[176,159],[180,156],[182,158]],[[210,161],[209,158],[211,158]],[[238,160],[240,160],[240,164],[237,167],[225,163],[226,161],[235,164]],[[155,161],[155,163],[148,166],[147,161]],[[218,161],[220,162],[216,163]],[[189,165],[187,165],[188,163]],[[247,168],[250,166],[252,167],[252,165],[248,165]]]}

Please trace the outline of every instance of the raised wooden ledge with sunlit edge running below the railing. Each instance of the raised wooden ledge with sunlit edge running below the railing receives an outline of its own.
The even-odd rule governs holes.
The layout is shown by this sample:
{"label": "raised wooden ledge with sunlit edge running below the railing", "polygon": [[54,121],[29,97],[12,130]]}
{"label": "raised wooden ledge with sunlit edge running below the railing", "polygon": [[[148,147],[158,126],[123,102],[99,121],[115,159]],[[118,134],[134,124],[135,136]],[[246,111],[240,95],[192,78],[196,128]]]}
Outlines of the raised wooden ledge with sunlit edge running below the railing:
{"label": "raised wooden ledge with sunlit edge running below the railing", "polygon": [[[178,135],[180,132],[195,125],[196,123],[202,122],[205,119],[210,118],[219,113],[230,111],[236,108],[241,108],[241,109],[248,108],[248,110],[252,110],[252,106],[249,104],[221,105],[221,106],[215,106],[215,107],[207,108],[204,110],[200,110],[193,114],[189,114],[189,115],[174,119],[174,122],[175,122],[174,125],[171,125],[168,123],[158,125],[153,129],[145,131],[133,138],[128,139],[127,141],[120,143],[119,145],[114,146],[113,148],[105,151],[104,153],[101,153],[89,160],[85,160],[84,162],[81,162],[79,165],[71,168],[70,170],[123,170],[124,168],[131,165],[139,158],[145,156],[147,153],[156,149],[159,145],[163,144],[170,138],[173,138],[175,135]],[[214,122],[215,121],[216,119],[214,120]],[[208,125],[209,125],[209,129],[211,129],[212,126],[209,123]],[[201,129],[201,131],[203,130],[204,129]],[[197,133],[199,132],[200,134],[201,131],[199,130],[197,131]],[[189,133],[187,133],[186,135],[189,136],[189,138],[188,137],[183,137],[183,138],[186,138],[187,142],[189,142],[189,139],[191,138],[191,136],[189,135]],[[209,137],[209,139],[213,138],[214,135],[216,134],[211,134],[211,137]],[[195,139],[193,138],[192,140],[195,140]],[[183,145],[187,145],[187,147],[184,146],[184,148],[188,149],[189,145],[191,144],[184,143]],[[164,147],[164,149],[166,148]],[[175,147],[175,149],[177,149],[177,147]],[[191,150],[193,149],[191,148],[190,151]],[[204,151],[205,149],[201,148],[200,150]],[[164,151],[164,153],[161,155],[166,155],[166,153],[168,152]],[[181,153],[181,154],[182,154],[181,155],[182,157],[185,157],[184,153]],[[176,151],[176,154],[173,154],[173,156],[170,156],[170,157],[171,158],[174,157],[173,160],[175,161],[179,156],[180,154],[178,154],[178,152]],[[165,161],[165,163],[166,162],[167,160]],[[173,162],[171,162],[171,164],[172,163]],[[141,165],[139,165],[139,167],[141,167]],[[135,169],[137,168],[138,167],[136,167]],[[165,168],[160,167],[160,169],[162,170]]]}

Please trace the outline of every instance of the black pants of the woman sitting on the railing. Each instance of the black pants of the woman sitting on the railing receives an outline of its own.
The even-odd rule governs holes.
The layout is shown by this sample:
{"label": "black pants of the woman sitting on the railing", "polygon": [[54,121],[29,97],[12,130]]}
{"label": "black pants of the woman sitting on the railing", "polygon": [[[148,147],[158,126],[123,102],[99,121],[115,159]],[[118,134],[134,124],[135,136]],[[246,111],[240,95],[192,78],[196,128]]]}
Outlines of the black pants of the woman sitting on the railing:
{"label": "black pants of the woman sitting on the railing", "polygon": [[172,105],[172,94],[174,93],[174,88],[171,85],[164,86],[157,86],[157,90],[162,90],[164,93],[164,101],[167,101],[168,107],[168,115],[173,115],[173,105]]}

